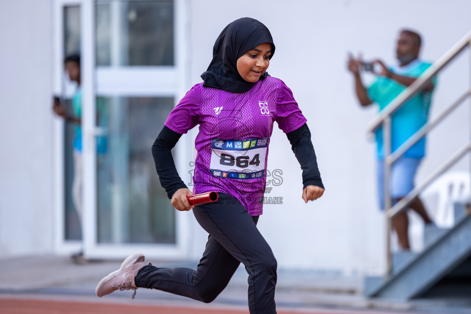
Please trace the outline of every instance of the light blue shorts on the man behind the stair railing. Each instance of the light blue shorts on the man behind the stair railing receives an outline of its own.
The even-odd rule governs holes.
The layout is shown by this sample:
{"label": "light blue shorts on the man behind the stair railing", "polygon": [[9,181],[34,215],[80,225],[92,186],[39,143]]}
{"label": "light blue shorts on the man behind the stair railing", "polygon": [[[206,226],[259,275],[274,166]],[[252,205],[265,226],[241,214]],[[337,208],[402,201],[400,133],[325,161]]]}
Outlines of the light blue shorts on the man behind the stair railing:
{"label": "light blue shorts on the man behind the stair railing", "polygon": [[[390,193],[393,199],[403,198],[414,189],[414,177],[422,159],[401,157],[392,164]],[[380,209],[384,209],[384,160],[377,163],[378,196]]]}

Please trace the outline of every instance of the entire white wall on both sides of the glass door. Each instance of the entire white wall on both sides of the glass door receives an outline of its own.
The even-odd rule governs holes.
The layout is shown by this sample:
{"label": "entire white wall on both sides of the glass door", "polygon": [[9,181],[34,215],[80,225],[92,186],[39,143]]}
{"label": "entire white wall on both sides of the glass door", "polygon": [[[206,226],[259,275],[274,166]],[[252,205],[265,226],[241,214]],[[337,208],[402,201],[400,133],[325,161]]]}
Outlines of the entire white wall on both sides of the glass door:
{"label": "entire white wall on both sides of the glass door", "polygon": [[[422,33],[423,58],[436,60],[471,29],[471,2],[188,2],[190,86],[201,81],[219,32],[252,16],[268,26],[276,43],[268,72],[286,82],[308,118],[326,187],[320,200],[301,200],[301,171],[276,127],[270,145],[268,169],[282,169],[284,182],[269,195],[282,196],[284,204],[266,205],[259,227],[279,267],[380,273],[384,218],[377,209],[375,145],[365,136],[376,109],[357,104],[347,52],[392,63],[398,30],[407,26]],[[50,0],[0,2],[0,257],[52,250],[51,8]],[[439,77],[432,114],[469,86],[469,60],[462,56]],[[463,105],[432,132],[419,179],[469,138],[470,116]],[[192,145],[196,132],[182,140]],[[469,164],[468,158],[455,169]],[[182,177],[188,182],[187,172]],[[194,219],[192,229],[191,256],[199,258],[206,234]]]}

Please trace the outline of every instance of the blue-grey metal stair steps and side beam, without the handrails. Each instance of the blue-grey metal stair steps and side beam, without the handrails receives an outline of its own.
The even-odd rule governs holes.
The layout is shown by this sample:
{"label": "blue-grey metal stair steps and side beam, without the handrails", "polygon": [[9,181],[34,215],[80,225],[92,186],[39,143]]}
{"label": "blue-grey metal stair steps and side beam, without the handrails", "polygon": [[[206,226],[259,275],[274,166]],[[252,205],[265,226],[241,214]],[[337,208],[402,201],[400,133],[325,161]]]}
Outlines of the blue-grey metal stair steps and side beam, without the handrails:
{"label": "blue-grey metal stair steps and side beam, without the handrails", "polygon": [[[395,253],[392,255],[393,271],[390,276],[367,277],[365,295],[397,299],[419,297],[470,258],[469,203],[455,203],[454,211],[453,228],[430,226],[425,229],[425,248],[421,253]],[[467,267],[465,272],[471,276],[471,267]]]}

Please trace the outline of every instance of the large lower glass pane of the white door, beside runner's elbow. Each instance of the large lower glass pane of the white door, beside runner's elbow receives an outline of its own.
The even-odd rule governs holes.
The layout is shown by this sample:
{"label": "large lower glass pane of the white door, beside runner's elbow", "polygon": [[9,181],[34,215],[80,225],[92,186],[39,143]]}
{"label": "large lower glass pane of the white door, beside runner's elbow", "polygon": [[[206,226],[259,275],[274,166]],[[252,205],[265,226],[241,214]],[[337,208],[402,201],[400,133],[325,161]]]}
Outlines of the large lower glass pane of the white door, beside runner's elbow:
{"label": "large lower glass pane of the white door, beside runner's elbow", "polygon": [[98,97],[99,243],[175,243],[175,209],[155,172],[151,147],[172,97]]}

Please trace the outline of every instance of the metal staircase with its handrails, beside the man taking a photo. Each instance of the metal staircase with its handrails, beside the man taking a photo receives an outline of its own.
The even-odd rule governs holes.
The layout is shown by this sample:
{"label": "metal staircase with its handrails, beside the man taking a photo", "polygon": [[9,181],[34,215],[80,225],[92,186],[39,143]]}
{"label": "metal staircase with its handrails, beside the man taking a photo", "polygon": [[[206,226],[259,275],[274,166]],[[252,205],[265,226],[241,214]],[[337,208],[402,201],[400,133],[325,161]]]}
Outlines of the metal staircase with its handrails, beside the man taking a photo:
{"label": "metal staircase with its handrails, beside the man taking a photo", "polygon": [[[398,213],[406,210],[428,185],[442,175],[447,169],[459,161],[471,150],[471,141],[463,145],[438,169],[433,171],[422,183],[417,185],[406,197],[392,206],[390,198],[390,169],[412,145],[417,143],[458,105],[471,95],[471,89],[455,99],[443,111],[432,117],[420,130],[402,144],[395,152],[391,152],[391,116],[409,99],[420,92],[428,82],[437,75],[450,61],[466,47],[471,47],[471,32],[466,34],[455,46],[447,51],[413,84],[387,105],[369,124],[368,130],[373,133],[378,128],[383,130],[384,149],[384,195],[386,209],[386,252],[387,272],[384,277],[367,277],[365,295],[368,297],[385,297],[410,299],[426,293],[450,274],[459,272],[471,280],[471,215],[469,201],[455,203],[455,225],[450,229],[435,226],[424,228],[424,250],[420,253],[398,252],[392,254],[390,233],[392,220]],[[471,50],[471,49],[470,49]]]}

